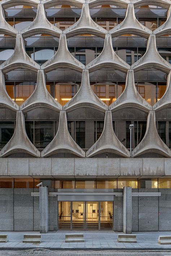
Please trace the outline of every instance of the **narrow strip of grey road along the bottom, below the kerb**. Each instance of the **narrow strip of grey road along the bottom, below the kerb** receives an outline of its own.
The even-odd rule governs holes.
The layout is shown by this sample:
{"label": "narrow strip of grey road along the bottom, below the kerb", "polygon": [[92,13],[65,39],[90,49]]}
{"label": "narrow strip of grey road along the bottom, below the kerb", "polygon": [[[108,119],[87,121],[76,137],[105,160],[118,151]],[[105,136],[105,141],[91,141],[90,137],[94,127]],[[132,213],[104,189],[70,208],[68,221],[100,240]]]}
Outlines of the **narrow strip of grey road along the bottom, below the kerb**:
{"label": "narrow strip of grey road along the bottom, below the kerb", "polygon": [[124,252],[124,251],[49,251],[49,250],[27,250],[27,251],[0,251],[0,256],[171,256],[171,252]]}

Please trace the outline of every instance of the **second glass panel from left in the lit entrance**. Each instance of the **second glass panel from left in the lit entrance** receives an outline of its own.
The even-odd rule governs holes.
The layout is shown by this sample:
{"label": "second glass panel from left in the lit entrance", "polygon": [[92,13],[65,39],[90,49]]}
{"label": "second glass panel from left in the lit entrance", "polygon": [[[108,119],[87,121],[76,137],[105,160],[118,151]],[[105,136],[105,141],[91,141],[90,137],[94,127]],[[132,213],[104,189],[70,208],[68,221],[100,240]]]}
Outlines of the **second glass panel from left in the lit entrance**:
{"label": "second glass panel from left in the lit entrance", "polygon": [[72,202],[72,229],[84,230],[84,202]]}

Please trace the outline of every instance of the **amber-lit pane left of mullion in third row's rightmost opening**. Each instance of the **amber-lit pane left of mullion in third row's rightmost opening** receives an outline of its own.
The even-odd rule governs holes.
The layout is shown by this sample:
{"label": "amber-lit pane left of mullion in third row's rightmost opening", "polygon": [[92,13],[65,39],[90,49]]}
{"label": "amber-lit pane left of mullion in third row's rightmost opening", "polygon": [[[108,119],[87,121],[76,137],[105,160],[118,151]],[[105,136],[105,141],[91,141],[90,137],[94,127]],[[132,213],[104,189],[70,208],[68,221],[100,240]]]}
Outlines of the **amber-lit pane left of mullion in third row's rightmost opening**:
{"label": "amber-lit pane left of mullion in third row's rightmost opening", "polygon": [[150,105],[156,102],[156,83],[139,82],[137,90],[141,97],[145,99]]}

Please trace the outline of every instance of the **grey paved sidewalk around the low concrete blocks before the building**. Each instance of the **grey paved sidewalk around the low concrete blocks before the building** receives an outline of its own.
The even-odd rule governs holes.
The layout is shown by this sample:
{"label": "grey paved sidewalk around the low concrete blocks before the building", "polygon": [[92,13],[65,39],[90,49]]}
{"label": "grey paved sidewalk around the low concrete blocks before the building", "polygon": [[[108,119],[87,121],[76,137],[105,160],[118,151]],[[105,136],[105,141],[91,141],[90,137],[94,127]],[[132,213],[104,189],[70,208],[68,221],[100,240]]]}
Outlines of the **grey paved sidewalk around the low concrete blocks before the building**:
{"label": "grey paved sidewalk around the low concrete blocks before the building", "polygon": [[[84,243],[65,243],[66,233],[84,234]],[[0,250],[28,250],[44,248],[48,250],[122,250],[122,251],[171,251],[171,245],[158,244],[159,235],[171,235],[170,231],[132,232],[137,235],[137,243],[118,243],[118,234],[123,232],[105,231],[69,231],[58,230],[41,234],[40,244],[22,243],[24,234],[40,234],[38,231],[2,231],[8,234],[9,241],[0,243]]]}

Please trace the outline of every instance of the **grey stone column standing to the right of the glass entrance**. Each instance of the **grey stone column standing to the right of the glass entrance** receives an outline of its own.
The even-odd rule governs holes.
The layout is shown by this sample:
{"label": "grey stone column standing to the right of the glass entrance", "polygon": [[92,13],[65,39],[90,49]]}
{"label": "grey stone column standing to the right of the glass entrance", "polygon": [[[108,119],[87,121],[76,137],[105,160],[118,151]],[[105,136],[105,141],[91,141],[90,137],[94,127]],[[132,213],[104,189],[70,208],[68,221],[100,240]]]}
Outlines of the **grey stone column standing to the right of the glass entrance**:
{"label": "grey stone column standing to the right of the glass entrance", "polygon": [[132,233],[132,187],[123,188],[123,232]]}

